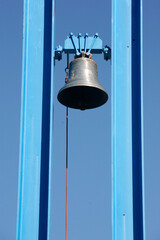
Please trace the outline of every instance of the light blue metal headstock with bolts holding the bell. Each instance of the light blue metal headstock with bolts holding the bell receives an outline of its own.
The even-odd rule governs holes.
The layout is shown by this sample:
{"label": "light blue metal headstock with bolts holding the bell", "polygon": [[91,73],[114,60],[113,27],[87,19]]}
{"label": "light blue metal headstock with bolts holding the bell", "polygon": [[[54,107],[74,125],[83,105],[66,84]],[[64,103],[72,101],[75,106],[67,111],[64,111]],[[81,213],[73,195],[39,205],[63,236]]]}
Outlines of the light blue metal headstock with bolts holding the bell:
{"label": "light blue metal headstock with bolts holding the bell", "polygon": [[64,48],[59,45],[55,49],[55,59],[61,60],[63,52],[66,54],[75,54],[76,56],[81,55],[82,52],[87,56],[104,53],[106,61],[111,59],[111,48],[107,45],[102,48],[102,40],[99,38],[98,33],[93,37],[88,36],[88,33],[84,36],[79,33],[77,37],[73,33],[70,33],[64,42]]}

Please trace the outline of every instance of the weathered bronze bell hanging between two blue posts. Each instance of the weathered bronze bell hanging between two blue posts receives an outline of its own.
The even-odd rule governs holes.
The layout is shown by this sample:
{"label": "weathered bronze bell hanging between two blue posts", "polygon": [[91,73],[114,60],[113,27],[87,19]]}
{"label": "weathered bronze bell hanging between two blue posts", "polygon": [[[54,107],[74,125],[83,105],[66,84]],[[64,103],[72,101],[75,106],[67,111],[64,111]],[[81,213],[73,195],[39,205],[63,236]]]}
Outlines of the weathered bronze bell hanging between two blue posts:
{"label": "weathered bronze bell hanging between two blue posts", "polygon": [[107,92],[98,82],[96,62],[86,57],[74,59],[70,63],[68,81],[57,98],[63,105],[81,110],[107,102]]}

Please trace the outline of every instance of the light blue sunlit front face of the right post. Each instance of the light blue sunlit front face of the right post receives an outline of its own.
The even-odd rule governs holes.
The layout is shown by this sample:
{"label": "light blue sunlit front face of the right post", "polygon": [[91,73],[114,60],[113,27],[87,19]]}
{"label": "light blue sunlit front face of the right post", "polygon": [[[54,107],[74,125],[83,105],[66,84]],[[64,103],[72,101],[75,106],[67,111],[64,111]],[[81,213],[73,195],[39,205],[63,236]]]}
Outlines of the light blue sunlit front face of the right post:
{"label": "light blue sunlit front face of the right post", "polygon": [[112,2],[112,234],[133,240],[132,0]]}

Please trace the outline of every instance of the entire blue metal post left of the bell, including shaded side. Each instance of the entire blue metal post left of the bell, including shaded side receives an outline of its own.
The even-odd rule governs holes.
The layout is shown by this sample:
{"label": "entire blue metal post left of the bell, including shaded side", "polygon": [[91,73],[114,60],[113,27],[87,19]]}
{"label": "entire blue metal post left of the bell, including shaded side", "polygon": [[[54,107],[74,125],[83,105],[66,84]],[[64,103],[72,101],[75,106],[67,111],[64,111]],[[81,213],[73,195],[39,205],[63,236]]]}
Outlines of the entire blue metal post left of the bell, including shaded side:
{"label": "entire blue metal post left of the bell, including shaded side", "polygon": [[49,239],[54,0],[24,0],[17,240]]}

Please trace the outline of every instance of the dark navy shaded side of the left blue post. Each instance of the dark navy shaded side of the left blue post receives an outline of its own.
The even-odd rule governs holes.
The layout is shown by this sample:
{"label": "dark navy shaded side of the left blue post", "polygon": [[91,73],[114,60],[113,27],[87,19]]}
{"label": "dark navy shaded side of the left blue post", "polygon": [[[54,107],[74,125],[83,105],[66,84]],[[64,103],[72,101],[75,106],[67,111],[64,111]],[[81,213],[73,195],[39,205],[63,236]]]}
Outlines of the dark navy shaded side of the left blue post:
{"label": "dark navy shaded side of the left blue post", "polygon": [[43,53],[43,105],[40,175],[39,240],[47,239],[49,196],[49,146],[51,107],[51,57],[52,57],[52,0],[45,0],[44,53]]}

